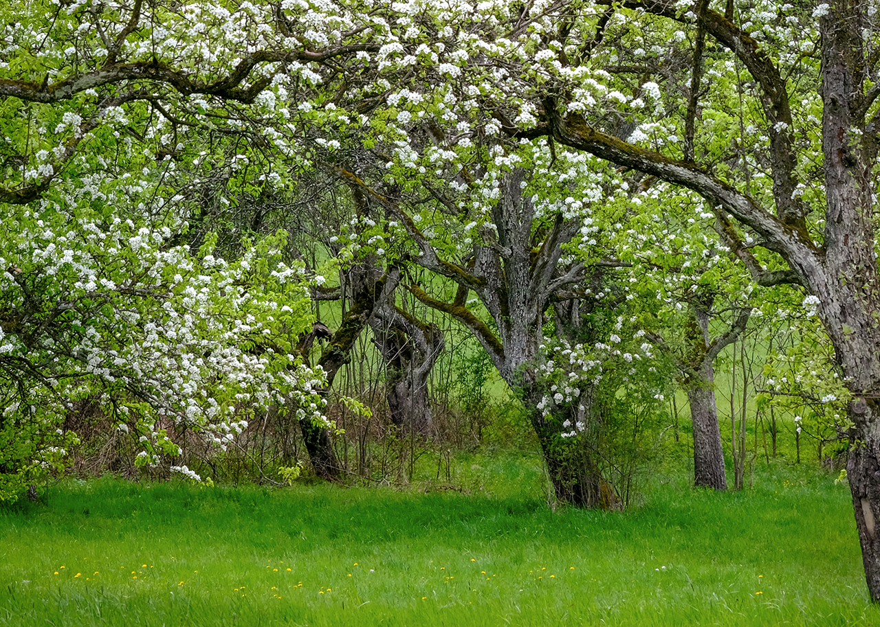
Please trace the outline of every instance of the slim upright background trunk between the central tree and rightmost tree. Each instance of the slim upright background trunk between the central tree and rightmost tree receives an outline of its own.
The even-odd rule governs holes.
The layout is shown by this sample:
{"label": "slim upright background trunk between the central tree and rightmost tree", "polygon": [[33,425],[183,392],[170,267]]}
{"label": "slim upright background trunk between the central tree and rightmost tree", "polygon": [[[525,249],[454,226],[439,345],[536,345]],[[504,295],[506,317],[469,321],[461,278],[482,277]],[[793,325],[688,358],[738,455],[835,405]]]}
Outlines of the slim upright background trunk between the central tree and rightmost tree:
{"label": "slim upright background trunk between the central tree and rightmost tree", "polygon": [[704,361],[699,374],[700,380],[692,380],[687,385],[693,424],[693,485],[727,490],[712,362]]}

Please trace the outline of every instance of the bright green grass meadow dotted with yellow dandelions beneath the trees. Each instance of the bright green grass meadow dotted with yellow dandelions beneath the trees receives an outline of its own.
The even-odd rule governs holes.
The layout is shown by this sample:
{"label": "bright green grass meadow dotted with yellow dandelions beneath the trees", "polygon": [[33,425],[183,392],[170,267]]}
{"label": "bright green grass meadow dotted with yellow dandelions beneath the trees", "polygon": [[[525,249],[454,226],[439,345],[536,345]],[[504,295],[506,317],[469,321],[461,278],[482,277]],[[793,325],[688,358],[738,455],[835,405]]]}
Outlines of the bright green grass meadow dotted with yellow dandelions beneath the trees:
{"label": "bright green grass meadow dotted with yellow dandelions beneath the trees", "polygon": [[880,624],[831,476],[554,512],[535,458],[477,461],[470,492],[66,482],[0,510],[0,625]]}

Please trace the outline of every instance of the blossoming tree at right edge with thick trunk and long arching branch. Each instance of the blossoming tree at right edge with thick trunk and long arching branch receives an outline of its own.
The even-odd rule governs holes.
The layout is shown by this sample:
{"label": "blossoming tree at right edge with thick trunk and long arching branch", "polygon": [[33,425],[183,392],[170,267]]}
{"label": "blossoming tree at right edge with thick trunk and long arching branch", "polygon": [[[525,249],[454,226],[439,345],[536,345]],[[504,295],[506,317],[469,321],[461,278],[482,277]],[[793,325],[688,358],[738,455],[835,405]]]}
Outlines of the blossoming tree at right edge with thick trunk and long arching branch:
{"label": "blossoming tree at right edge with thick trunk and long arching branch", "polygon": [[[547,43],[532,57],[544,64],[533,67],[550,78],[532,91],[537,122],[510,132],[546,135],[698,194],[755,281],[807,292],[850,396],[847,472],[869,592],[880,601],[876,7],[835,0],[726,9],[630,1],[565,4],[560,13],[536,16],[534,40]],[[723,63],[705,77],[694,71],[689,89],[655,93],[663,105],[644,106],[620,91],[659,91],[656,83],[600,69],[625,56],[656,66],[656,47],[671,33],[682,33],[682,41],[704,33]],[[597,42],[590,63],[575,65],[584,41]],[[693,49],[696,65],[700,48]],[[591,108],[615,91],[622,98],[613,98],[614,108],[637,122],[626,140],[609,132],[607,108]],[[730,100],[739,102],[741,124],[715,113]],[[670,110],[678,112],[671,120],[664,113]],[[725,157],[740,160],[742,174]]]}

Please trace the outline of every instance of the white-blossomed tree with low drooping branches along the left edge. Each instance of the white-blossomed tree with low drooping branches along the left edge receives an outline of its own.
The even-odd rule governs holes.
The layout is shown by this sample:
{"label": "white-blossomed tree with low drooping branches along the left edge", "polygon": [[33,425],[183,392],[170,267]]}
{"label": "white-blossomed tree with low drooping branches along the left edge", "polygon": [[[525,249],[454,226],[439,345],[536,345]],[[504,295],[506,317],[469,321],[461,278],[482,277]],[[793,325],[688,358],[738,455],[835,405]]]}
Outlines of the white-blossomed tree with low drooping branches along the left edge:
{"label": "white-blossomed tree with low drooping branches along the left edge", "polygon": [[228,205],[290,181],[291,93],[318,81],[309,63],[373,49],[369,20],[142,0],[0,18],[0,498],[62,463],[83,397],[136,432],[139,463],[176,453],[175,428],[224,448],[268,405],[328,427],[325,379],[296,354],[304,266],[280,234],[224,259],[189,227],[206,190]]}

